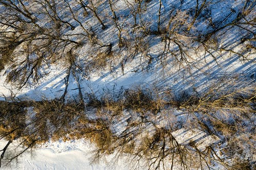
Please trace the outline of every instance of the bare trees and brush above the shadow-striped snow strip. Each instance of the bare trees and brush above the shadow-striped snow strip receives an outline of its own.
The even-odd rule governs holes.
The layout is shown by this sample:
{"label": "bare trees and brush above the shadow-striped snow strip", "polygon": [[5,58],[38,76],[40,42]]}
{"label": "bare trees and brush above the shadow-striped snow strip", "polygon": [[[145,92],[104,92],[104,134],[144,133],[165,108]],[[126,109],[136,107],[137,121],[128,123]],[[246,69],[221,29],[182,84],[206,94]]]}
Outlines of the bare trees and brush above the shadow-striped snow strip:
{"label": "bare trees and brush above the shadow-striped snow strip", "polygon": [[[7,81],[22,88],[47,75],[52,64],[69,60],[70,51],[77,53],[85,46],[90,50],[81,64],[87,74],[99,68],[124,71],[126,63],[135,58],[140,58],[140,66],[146,69],[153,60],[162,68],[172,61],[179,68],[190,69],[203,59],[198,55],[201,52],[205,62],[209,55],[217,64],[220,54],[246,62],[255,53],[255,4],[250,0],[244,1],[239,11],[230,9],[217,20],[212,20],[211,6],[223,1],[196,1],[191,9],[185,1],[168,8],[159,1],[154,10],[152,1],[122,1],[124,9],[118,7],[119,1],[1,1],[0,70],[8,65]],[[148,12],[156,22],[148,18]],[[90,18],[96,25],[89,23]],[[207,29],[200,30],[197,26],[203,21]],[[101,37],[108,29],[114,30],[113,35]],[[233,40],[233,45],[222,42],[219,37],[228,37],[234,29],[241,41]],[[152,38],[161,40],[155,57],[150,54]]]}

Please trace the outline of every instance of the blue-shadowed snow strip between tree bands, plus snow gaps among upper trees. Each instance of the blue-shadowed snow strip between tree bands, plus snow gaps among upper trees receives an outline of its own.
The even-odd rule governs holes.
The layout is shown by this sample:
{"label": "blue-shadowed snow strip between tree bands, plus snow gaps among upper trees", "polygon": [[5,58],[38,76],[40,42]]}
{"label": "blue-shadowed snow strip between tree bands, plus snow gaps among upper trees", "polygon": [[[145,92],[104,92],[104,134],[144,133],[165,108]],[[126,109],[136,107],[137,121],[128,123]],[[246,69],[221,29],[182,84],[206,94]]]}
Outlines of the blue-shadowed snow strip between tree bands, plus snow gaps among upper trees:
{"label": "blue-shadowed snow strip between tree bands, plus snow gaps among upper trees", "polygon": [[[115,6],[116,9],[125,9],[127,10],[127,6],[124,3],[125,1],[117,1]],[[128,1],[130,2],[130,1]],[[223,19],[225,16],[229,16],[230,9],[236,11],[236,13],[230,13],[230,17],[225,20],[228,22],[229,20],[234,19],[239,9],[243,7],[243,1],[236,1],[229,3],[229,1],[219,2],[214,1],[206,1],[210,4],[211,7],[211,18],[212,20]],[[131,1],[131,3],[134,3]],[[217,3],[217,4],[215,4]],[[162,12],[168,12],[171,7],[179,6],[179,1],[162,1]],[[157,11],[158,2],[151,2],[148,4],[147,10],[148,13]],[[187,6],[195,6],[195,2],[188,1],[183,4],[181,10],[187,9]],[[124,14],[125,13],[124,10]],[[123,14],[123,15],[124,15]],[[223,18],[222,18],[223,17]],[[145,22],[149,25],[154,26],[154,22],[152,20],[157,20],[158,15],[152,14],[152,16],[148,16],[145,14],[143,16]],[[98,25],[95,25],[94,18],[90,18],[86,24],[91,23],[92,28],[95,29],[98,34],[98,38],[104,43],[113,43],[113,50],[117,48],[117,30],[114,26],[109,26],[106,30],[101,31],[98,29]],[[125,18],[125,22],[132,22],[132,16]],[[222,25],[224,25],[224,23]],[[129,27],[129,25],[127,25]],[[197,31],[206,32],[207,26],[204,21],[199,21],[196,26]],[[79,33],[81,28],[78,26],[72,34]],[[252,32],[254,30],[251,30]],[[71,31],[68,31],[70,33]],[[234,52],[238,52],[243,48],[239,45],[241,40],[241,36],[243,36],[243,32],[239,31],[235,28],[231,28],[229,30],[223,30],[218,33],[222,39],[219,39],[218,45],[231,49]],[[253,43],[253,41],[252,41]],[[83,60],[90,59],[88,53],[90,51],[89,45],[84,45],[82,48],[78,49],[76,53],[78,54],[78,65],[84,67]],[[133,88],[140,86],[143,88],[168,88],[172,89],[175,92],[180,90],[186,90],[191,88],[196,88],[198,91],[202,91],[207,88],[211,82],[223,77],[238,77],[242,81],[244,78],[248,79],[251,75],[254,74],[252,79],[256,77],[256,64],[255,60],[253,60],[254,53],[249,53],[248,60],[241,61],[241,56],[235,55],[234,53],[229,53],[225,51],[220,52],[212,52],[216,56],[216,60],[214,60],[210,54],[206,53],[204,57],[204,51],[196,54],[196,56],[191,56],[195,60],[191,63],[191,68],[174,66],[173,60],[168,59],[168,64],[165,66],[165,69],[162,69],[161,62],[157,57],[161,51],[163,50],[163,43],[159,41],[159,38],[151,37],[149,41],[148,54],[150,54],[152,59],[151,67],[148,69],[143,68],[143,64],[147,62],[145,58],[140,58],[140,54],[136,55],[136,57],[125,64],[123,74],[120,68],[120,65],[114,65],[112,71],[108,68],[93,70],[86,72],[86,75],[78,75],[80,88],[83,94],[86,93],[94,93],[99,98],[104,94],[104,90],[118,90],[120,88]],[[244,52],[242,52],[244,53]],[[122,55],[122,54],[121,54]],[[195,55],[195,54],[194,54]],[[6,76],[4,74],[6,70],[3,70],[0,73],[0,100],[5,100],[4,96],[10,96],[11,90],[12,95],[15,95],[20,100],[41,100],[41,99],[55,99],[59,98],[65,91],[65,78],[67,76],[67,68],[65,67],[65,63],[57,63],[52,64],[49,68],[44,70],[47,72],[45,77],[39,79],[38,82],[28,81],[28,85],[24,86],[22,89],[17,89],[14,85],[7,83]],[[107,66],[106,66],[107,67]],[[7,67],[7,70],[9,68]],[[189,69],[189,71],[188,71]],[[83,70],[87,71],[87,70]],[[67,98],[74,99],[78,94],[77,83],[73,75],[69,78],[69,86],[67,92]],[[14,82],[15,83],[15,82]],[[83,96],[86,98],[86,96]]]}

